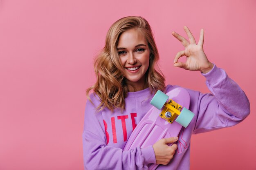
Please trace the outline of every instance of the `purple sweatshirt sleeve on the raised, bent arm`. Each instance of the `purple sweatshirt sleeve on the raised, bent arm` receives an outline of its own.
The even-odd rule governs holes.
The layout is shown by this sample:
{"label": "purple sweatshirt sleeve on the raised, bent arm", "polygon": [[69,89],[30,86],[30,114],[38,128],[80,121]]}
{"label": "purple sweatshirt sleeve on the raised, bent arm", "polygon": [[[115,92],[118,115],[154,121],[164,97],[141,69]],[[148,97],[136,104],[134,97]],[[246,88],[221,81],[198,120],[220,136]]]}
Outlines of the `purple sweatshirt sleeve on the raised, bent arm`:
{"label": "purple sweatshirt sleeve on the raised, bent arm", "polygon": [[196,105],[198,113],[194,134],[234,126],[249,115],[247,96],[224,70],[214,65],[210,72],[202,75],[206,77],[207,87],[212,94],[190,91],[191,102]]}

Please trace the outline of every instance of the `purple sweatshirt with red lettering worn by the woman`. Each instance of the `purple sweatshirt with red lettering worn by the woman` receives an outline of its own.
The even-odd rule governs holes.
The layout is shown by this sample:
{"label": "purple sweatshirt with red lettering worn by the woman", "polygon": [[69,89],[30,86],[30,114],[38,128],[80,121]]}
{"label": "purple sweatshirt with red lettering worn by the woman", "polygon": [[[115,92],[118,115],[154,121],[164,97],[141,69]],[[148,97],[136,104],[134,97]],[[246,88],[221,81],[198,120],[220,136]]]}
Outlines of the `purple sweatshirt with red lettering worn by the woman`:
{"label": "purple sweatshirt with red lettering worn by the woman", "polygon": [[[189,170],[190,140],[192,134],[234,126],[250,113],[250,104],[242,89],[226,72],[214,65],[202,74],[211,93],[202,94],[186,89],[191,97],[190,107],[195,117],[187,128],[182,128],[178,148],[173,159],[157,170]],[[176,86],[177,87],[177,86]],[[175,86],[166,86],[166,92]],[[149,88],[128,92],[126,109],[113,113],[105,108],[97,112],[99,97],[90,95],[85,107],[83,129],[83,161],[85,170],[147,170],[149,163],[156,163],[153,146],[123,151],[132,131],[152,107]]]}

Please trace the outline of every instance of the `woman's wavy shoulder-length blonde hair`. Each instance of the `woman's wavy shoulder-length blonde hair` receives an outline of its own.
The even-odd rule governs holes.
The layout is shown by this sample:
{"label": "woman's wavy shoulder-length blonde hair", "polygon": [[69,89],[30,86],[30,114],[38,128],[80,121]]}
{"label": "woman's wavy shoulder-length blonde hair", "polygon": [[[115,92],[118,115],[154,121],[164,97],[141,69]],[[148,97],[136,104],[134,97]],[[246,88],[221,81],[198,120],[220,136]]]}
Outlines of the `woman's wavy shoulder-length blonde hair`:
{"label": "woman's wavy shoulder-length blonde hair", "polygon": [[150,62],[145,73],[146,81],[144,88],[149,87],[151,93],[154,94],[157,90],[165,90],[165,78],[157,65],[159,53],[150,25],[142,17],[124,17],[112,24],[106,35],[105,47],[94,60],[94,71],[97,81],[86,90],[86,96],[91,101],[89,97],[91,90],[93,90],[94,95],[99,96],[101,103],[97,110],[103,110],[106,107],[111,111],[115,108],[125,109],[124,99],[128,93],[128,86],[124,77],[124,67],[119,59],[117,44],[120,35],[129,29],[141,31],[150,49]]}

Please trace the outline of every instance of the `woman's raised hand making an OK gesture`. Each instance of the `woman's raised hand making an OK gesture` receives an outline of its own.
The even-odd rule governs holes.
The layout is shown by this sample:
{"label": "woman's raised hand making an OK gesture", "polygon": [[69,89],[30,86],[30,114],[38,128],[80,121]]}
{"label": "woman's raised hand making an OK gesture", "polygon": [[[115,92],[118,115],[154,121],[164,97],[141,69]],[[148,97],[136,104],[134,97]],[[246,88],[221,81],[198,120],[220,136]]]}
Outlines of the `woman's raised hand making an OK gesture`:
{"label": "woman's raised hand making an OK gesture", "polygon": [[[204,29],[201,29],[200,31],[198,44],[196,44],[195,38],[189,31],[189,28],[184,26],[184,30],[189,37],[189,42],[181,35],[175,33],[174,31],[172,32],[172,35],[185,47],[185,50],[176,54],[174,58],[174,66],[190,71],[201,71],[202,73],[208,73],[213,68],[213,64],[209,62],[203,50]],[[186,56],[186,62],[178,62],[179,58],[182,56]]]}

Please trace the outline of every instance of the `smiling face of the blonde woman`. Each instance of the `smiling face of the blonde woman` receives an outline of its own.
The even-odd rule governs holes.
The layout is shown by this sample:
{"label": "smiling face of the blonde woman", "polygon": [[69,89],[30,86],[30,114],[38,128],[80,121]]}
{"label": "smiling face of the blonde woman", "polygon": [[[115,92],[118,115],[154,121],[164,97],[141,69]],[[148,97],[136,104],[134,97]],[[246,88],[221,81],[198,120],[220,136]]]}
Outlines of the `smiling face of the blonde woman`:
{"label": "smiling face of the blonde woman", "polygon": [[150,55],[144,35],[137,29],[125,31],[119,37],[117,51],[125,70],[127,84],[131,84],[137,90],[144,89]]}

